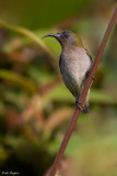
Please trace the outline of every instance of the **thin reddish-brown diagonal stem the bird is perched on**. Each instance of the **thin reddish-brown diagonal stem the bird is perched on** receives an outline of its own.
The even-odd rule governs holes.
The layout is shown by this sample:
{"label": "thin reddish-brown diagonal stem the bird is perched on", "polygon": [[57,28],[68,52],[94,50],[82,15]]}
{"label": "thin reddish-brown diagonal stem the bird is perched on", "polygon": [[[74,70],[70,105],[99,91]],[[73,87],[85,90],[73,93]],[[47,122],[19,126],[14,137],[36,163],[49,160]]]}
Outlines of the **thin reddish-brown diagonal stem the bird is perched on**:
{"label": "thin reddish-brown diagonal stem the bird is perched on", "polygon": [[[93,63],[92,69],[91,69],[90,75],[89,75],[89,77],[87,77],[87,79],[86,79],[86,82],[85,82],[85,85],[84,85],[84,88],[83,88],[83,90],[82,90],[82,92],[81,92],[81,96],[80,96],[80,99],[79,99],[81,107],[82,107],[83,103],[84,103],[86,94],[87,94],[87,91],[89,91],[89,89],[90,89],[90,87],[91,87],[91,84],[92,84],[92,78],[94,77],[94,74],[95,74],[96,68],[97,68],[97,66],[98,66],[98,63],[101,62],[101,58],[102,58],[102,55],[103,55],[105,45],[106,45],[107,40],[108,40],[108,37],[109,37],[109,35],[110,35],[110,32],[112,32],[112,30],[113,30],[113,28],[114,28],[114,25],[115,25],[115,23],[116,23],[116,19],[117,19],[117,9],[115,9],[114,14],[113,14],[113,16],[112,16],[112,19],[110,19],[110,21],[109,21],[108,28],[107,28],[107,30],[106,30],[106,32],[105,32],[104,38],[103,38],[103,41],[102,41],[102,43],[101,43],[101,46],[100,46],[98,52],[97,52],[97,54],[96,54],[95,61],[94,61],[94,63]],[[63,153],[65,153],[65,150],[66,150],[66,147],[67,147],[67,145],[68,145],[68,142],[69,142],[69,140],[70,140],[70,136],[71,136],[71,134],[72,134],[72,131],[73,131],[73,129],[74,129],[74,127],[75,127],[75,123],[77,123],[77,120],[78,120],[78,118],[79,118],[79,114],[80,114],[80,109],[75,108],[75,109],[74,109],[74,112],[73,112],[73,116],[72,116],[72,119],[71,119],[71,121],[70,121],[70,124],[69,124],[69,127],[68,127],[68,130],[67,130],[67,132],[66,132],[66,134],[65,134],[65,138],[63,138],[63,140],[62,140],[62,143],[61,143],[60,148],[59,148],[59,151],[58,151],[58,154],[57,154],[57,156],[56,156],[56,158],[55,158],[55,162],[54,162],[54,164],[52,164],[52,167],[50,168],[49,176],[55,176],[55,174],[56,174],[56,172],[57,172],[57,168],[58,168],[58,166],[59,166],[59,164],[60,164],[60,161],[61,161],[61,158],[62,158],[62,155],[63,155]]]}

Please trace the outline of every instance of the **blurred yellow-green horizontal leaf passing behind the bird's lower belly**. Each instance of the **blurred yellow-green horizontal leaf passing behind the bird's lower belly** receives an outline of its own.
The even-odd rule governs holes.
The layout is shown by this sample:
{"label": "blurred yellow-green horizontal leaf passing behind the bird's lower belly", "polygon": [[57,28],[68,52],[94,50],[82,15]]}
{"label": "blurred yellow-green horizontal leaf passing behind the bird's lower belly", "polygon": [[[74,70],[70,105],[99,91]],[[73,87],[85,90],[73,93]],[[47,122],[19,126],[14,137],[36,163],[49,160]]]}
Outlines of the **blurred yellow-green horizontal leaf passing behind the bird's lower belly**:
{"label": "blurred yellow-green horizontal leaf passing behind the bird's lower belly", "polygon": [[[48,103],[50,100],[57,101],[69,101],[73,102],[73,96],[69,92],[69,90],[62,85],[59,84],[56,86],[52,91],[47,94],[44,97],[44,101]],[[113,97],[113,95],[106,94],[104,90],[91,89],[90,96],[91,102],[96,103],[107,103],[107,105],[117,105],[117,98]]]}

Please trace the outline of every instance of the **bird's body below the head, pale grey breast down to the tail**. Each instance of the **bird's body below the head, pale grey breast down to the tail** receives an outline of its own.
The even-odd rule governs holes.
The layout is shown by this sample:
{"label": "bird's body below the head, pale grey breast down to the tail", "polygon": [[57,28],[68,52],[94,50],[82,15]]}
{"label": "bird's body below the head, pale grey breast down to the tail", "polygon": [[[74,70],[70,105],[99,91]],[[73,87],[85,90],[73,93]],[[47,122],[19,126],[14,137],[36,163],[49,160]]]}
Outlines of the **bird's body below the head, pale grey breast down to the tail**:
{"label": "bird's body below the head, pale grey breast down to the tail", "polygon": [[[79,96],[86,80],[92,61],[84,48],[78,46],[68,47],[69,46],[66,45],[61,52],[59,67],[65,85],[74,96],[75,103],[79,103]],[[66,50],[68,52],[66,52]],[[89,94],[83,106],[83,112],[86,113],[87,111]]]}

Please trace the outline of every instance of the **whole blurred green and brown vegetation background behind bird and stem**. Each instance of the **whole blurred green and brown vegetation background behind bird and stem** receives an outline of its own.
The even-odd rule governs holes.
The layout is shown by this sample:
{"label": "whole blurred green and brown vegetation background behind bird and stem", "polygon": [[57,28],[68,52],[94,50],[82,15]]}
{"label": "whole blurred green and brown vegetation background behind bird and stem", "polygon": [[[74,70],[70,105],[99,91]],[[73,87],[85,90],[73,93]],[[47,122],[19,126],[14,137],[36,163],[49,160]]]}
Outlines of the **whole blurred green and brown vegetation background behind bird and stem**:
{"label": "whole blurred green and brown vegetation background behind bird and stem", "polygon": [[[0,175],[43,176],[74,108],[58,68],[60,45],[44,34],[71,30],[92,57],[116,1],[0,1]],[[117,26],[96,73],[91,112],[81,114],[59,173],[117,176]]]}

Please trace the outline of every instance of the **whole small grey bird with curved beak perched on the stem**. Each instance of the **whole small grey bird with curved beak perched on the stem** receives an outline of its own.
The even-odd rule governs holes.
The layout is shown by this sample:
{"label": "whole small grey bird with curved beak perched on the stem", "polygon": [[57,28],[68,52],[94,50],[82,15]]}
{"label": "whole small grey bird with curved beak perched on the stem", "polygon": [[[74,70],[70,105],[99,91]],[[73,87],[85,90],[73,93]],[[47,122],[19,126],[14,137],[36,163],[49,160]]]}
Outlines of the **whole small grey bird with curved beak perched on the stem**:
{"label": "whole small grey bird with curved beak perched on the stem", "polygon": [[44,37],[52,36],[61,45],[59,67],[65,85],[75,98],[75,105],[82,113],[87,113],[89,94],[83,107],[80,107],[79,96],[82,91],[86,77],[92,66],[92,58],[83,47],[81,38],[71,31],[61,31],[56,34],[47,34]]}

